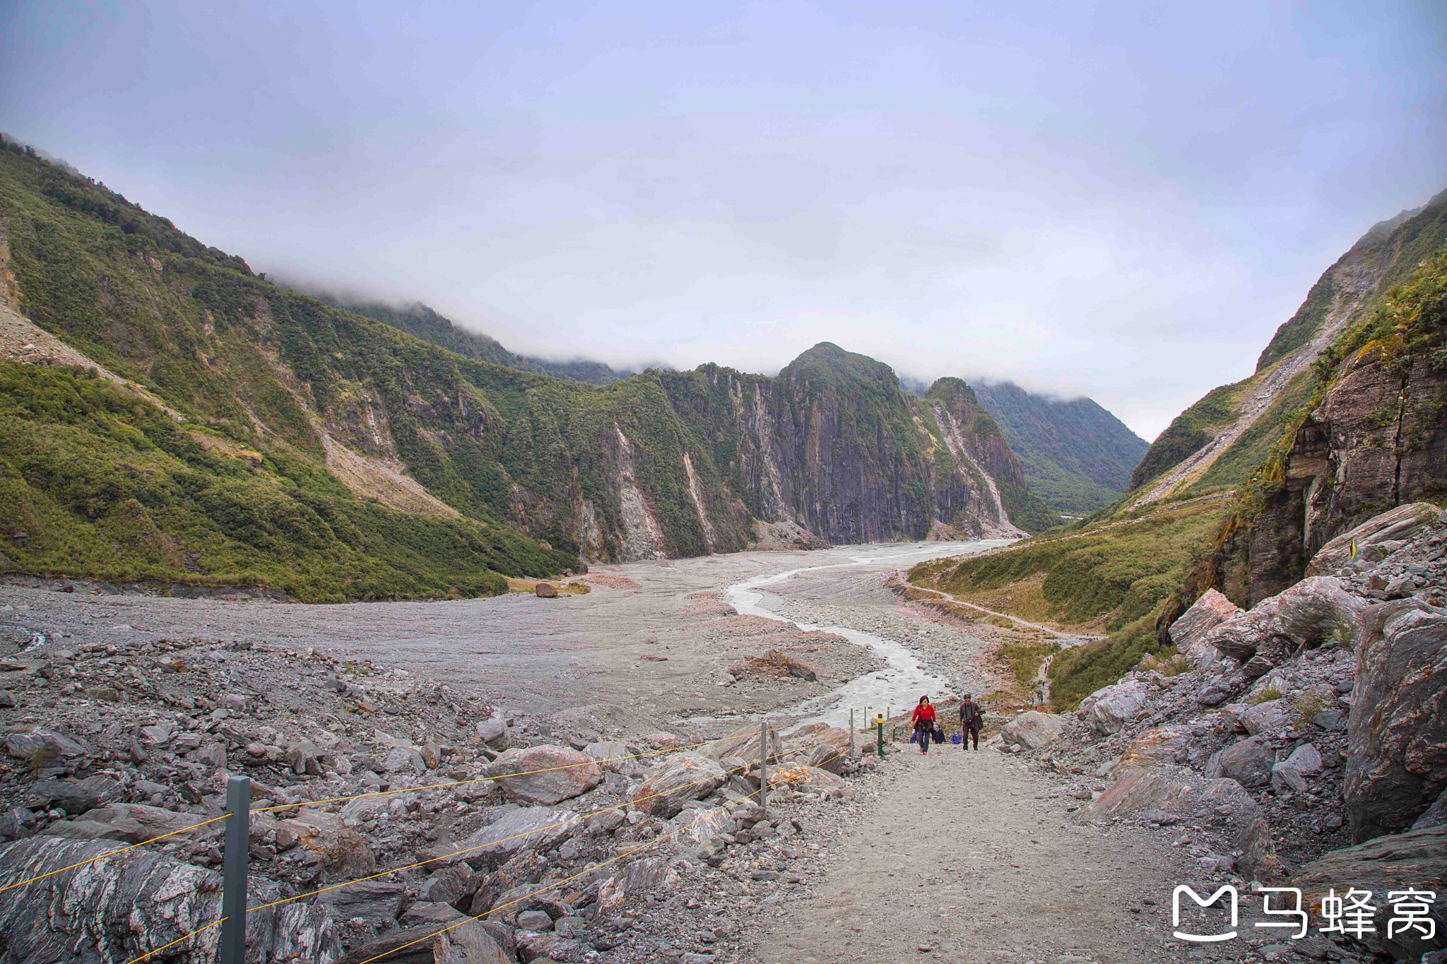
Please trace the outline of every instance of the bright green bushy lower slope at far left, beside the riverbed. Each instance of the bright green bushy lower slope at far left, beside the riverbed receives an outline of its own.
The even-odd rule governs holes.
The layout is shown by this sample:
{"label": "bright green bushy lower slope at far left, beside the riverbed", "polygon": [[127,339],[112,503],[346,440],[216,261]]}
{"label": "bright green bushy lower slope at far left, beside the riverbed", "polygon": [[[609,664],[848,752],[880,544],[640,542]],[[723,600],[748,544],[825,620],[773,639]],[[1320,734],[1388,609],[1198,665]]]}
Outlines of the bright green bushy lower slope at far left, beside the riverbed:
{"label": "bright green bushy lower slope at far left, beside the riverbed", "polygon": [[90,370],[0,363],[6,571],[266,585],[308,603],[491,595],[566,565],[504,526],[360,500],[285,442],[227,444]]}

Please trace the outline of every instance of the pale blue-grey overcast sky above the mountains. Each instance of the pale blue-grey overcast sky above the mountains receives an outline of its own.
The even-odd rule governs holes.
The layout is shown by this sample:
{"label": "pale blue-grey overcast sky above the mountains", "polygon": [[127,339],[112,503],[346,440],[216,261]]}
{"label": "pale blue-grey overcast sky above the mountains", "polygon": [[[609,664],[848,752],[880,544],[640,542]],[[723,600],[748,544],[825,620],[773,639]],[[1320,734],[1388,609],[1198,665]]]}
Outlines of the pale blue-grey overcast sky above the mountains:
{"label": "pale blue-grey overcast sky above the mountains", "polygon": [[505,345],[1090,395],[1153,438],[1447,188],[1447,4],[0,3],[0,130]]}

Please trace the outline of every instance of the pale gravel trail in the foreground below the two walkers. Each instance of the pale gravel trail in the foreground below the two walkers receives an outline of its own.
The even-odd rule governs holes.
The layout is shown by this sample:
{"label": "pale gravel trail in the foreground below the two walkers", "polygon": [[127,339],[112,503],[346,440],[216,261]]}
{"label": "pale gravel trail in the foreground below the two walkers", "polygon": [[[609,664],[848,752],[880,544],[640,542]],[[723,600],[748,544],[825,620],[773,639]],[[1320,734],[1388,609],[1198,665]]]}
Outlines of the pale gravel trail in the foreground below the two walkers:
{"label": "pale gravel trail in the foreground below the two walkers", "polygon": [[884,766],[812,898],[747,960],[1240,960],[1240,945],[1187,957],[1171,937],[1171,892],[1192,869],[1159,831],[1075,825],[1055,780],[984,744],[907,747]]}

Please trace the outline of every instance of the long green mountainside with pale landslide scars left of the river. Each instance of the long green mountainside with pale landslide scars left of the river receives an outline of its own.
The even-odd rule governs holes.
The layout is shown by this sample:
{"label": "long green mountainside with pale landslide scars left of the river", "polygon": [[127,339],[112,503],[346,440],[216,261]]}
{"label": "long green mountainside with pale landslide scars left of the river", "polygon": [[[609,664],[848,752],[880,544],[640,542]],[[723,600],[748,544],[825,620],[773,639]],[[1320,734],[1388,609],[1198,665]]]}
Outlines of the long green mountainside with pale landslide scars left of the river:
{"label": "long green mountainside with pale landslide scars left of the river", "polygon": [[446,319],[414,319],[424,340],[281,288],[3,146],[3,569],[410,598],[1053,522],[964,383],[917,400],[833,345],[776,379],[498,364],[434,344]]}

